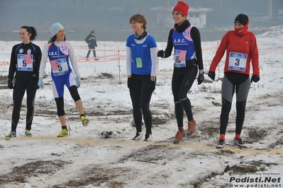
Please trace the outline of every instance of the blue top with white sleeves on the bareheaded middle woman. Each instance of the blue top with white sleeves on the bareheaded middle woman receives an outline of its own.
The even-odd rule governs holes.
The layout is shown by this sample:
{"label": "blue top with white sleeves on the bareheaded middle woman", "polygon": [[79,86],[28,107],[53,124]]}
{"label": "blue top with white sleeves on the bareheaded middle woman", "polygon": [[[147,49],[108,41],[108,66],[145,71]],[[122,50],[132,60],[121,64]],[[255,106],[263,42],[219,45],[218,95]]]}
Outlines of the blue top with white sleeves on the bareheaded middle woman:
{"label": "blue top with white sleeves on the bareheaded middle woman", "polygon": [[147,35],[143,40],[135,40],[133,34],[128,37],[126,46],[127,74],[156,76],[157,44],[154,37]]}

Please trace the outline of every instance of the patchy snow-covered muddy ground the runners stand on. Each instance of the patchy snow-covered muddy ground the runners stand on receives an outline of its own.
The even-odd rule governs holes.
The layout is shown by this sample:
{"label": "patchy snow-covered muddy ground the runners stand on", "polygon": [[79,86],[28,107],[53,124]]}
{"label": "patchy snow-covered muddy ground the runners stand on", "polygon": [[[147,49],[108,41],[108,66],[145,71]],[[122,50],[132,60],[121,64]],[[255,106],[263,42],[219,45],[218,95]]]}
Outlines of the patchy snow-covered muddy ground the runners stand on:
{"label": "patchy snow-covered muddy ground the runners stand on", "polygon": [[[37,91],[35,98],[33,137],[23,136],[25,96],[17,137],[6,141],[4,136],[11,130],[13,90],[4,88],[6,81],[1,81],[4,89],[0,90],[0,187],[282,187],[282,30],[280,25],[257,35],[260,81],[250,86],[241,136],[245,148],[233,146],[235,97],[226,146],[215,147],[224,58],[216,69],[216,81],[205,74],[204,83],[198,86],[195,81],[189,91],[196,132],[179,144],[172,143],[177,132],[171,91],[173,61],[172,57],[158,59],[157,86],[150,102],[153,139],[145,143],[131,141],[135,128],[126,86],[126,42],[98,41],[99,61],[86,61],[86,43],[70,41],[82,76],[79,95],[90,123],[82,126],[66,88],[65,112],[70,136],[56,137],[61,126],[47,63],[45,87]],[[201,44],[206,73],[218,42]],[[4,78],[8,75],[11,48],[18,43],[19,39],[0,41],[0,76]],[[43,47],[44,41],[35,44]],[[166,42],[157,42],[157,47],[165,49]]]}

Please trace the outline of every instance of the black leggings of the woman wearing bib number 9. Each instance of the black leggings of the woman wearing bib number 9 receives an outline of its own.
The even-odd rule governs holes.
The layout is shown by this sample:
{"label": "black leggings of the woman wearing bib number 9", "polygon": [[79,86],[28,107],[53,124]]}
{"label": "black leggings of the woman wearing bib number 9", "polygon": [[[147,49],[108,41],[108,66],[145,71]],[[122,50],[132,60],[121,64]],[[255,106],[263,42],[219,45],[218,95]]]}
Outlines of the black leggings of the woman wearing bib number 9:
{"label": "black leggings of the woman wearing bib number 9", "polygon": [[[36,83],[35,83],[36,82]],[[21,103],[23,101],[23,95],[26,92],[26,129],[30,131],[31,124],[33,123],[34,114],[34,100],[35,100],[35,84],[37,81],[33,80],[23,80],[16,79],[15,86],[13,88],[13,113],[12,113],[12,125],[11,131],[16,132],[18,125],[18,119],[20,119]]]}

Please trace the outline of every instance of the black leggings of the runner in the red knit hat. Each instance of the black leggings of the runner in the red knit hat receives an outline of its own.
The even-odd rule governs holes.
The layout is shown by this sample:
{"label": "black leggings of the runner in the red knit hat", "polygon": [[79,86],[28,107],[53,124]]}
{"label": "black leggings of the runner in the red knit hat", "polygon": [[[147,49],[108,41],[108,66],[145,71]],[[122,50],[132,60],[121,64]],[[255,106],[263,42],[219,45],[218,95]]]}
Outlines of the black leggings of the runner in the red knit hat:
{"label": "black leggings of the runner in the red knit hat", "polygon": [[197,66],[190,66],[189,68],[174,67],[172,76],[172,93],[174,96],[175,115],[177,119],[177,126],[183,127],[184,112],[187,114],[187,119],[192,120],[192,105],[187,93],[192,88],[194,80],[196,79]]}

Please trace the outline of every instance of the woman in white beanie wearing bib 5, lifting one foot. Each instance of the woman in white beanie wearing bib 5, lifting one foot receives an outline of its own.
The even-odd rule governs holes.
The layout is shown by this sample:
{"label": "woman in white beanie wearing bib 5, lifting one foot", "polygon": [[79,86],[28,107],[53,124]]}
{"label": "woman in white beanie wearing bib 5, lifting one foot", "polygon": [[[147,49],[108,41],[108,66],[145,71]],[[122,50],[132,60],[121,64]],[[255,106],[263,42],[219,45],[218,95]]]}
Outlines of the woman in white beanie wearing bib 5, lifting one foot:
{"label": "woman in white beanie wearing bib 5, lifting one foot", "polygon": [[[81,81],[74,49],[71,43],[66,40],[65,30],[60,23],[52,24],[50,31],[52,38],[43,45],[43,57],[40,62],[38,86],[40,86],[40,88],[44,87],[43,75],[47,58],[49,58],[51,64],[52,90],[57,105],[57,115],[62,125],[62,131],[57,137],[63,137],[68,135],[64,110],[65,85],[70,91],[84,127],[89,124],[89,120],[84,114],[82,100],[77,90],[81,85]],[[71,69],[70,62],[74,70]]]}

